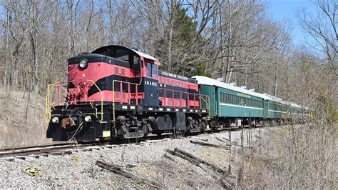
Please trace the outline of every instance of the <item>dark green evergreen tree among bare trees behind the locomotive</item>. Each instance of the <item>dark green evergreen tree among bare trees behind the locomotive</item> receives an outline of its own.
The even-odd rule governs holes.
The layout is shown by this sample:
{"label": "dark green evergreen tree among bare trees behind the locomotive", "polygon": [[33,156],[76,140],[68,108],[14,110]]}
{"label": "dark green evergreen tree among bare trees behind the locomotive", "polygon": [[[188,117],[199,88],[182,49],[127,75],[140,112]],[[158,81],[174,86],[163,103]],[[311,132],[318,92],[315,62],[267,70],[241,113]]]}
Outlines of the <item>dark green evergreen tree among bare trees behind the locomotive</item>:
{"label": "dark green evergreen tree among bare trees behind the locomotive", "polygon": [[[160,59],[162,69],[185,76],[203,75],[210,76],[206,72],[205,63],[185,64],[194,61],[195,54],[203,54],[201,47],[191,49],[196,39],[196,26],[193,18],[188,16],[188,9],[180,5],[173,7],[173,24],[165,26],[165,35],[162,39],[155,41],[155,57]],[[171,31],[171,32],[170,32]],[[200,37],[200,36],[199,36]],[[171,49],[169,48],[171,46]],[[194,54],[188,52],[193,51]],[[171,59],[169,56],[171,55]],[[183,61],[182,60],[186,60]],[[169,61],[171,60],[171,61]]]}

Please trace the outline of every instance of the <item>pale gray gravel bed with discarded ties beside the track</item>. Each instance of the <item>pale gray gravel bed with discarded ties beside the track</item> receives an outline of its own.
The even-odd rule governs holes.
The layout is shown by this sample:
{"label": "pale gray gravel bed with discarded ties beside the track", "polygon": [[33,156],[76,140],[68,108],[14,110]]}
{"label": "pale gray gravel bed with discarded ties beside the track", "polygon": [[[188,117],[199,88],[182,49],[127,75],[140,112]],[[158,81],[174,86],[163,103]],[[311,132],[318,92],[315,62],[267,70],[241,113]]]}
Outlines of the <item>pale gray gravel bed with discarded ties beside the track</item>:
{"label": "pale gray gravel bed with discarded ties beside the track", "polygon": [[[221,178],[220,174],[213,174],[215,171],[202,169],[184,159],[165,153],[165,149],[178,148],[188,151],[226,171],[229,170],[231,162],[231,169],[235,170],[237,162],[235,153],[242,149],[241,142],[243,146],[257,146],[259,144],[257,139],[260,138],[256,137],[264,134],[267,129],[270,128],[251,129],[250,144],[247,143],[248,129],[232,131],[231,140],[238,144],[231,148],[233,156],[229,156],[230,150],[190,143],[190,140],[197,139],[212,144],[226,144],[227,141],[222,140],[229,139],[229,132],[222,131],[183,139],[150,140],[140,144],[114,145],[91,150],[86,148],[88,151],[78,150],[63,156],[40,156],[39,159],[26,156],[26,160],[14,159],[14,161],[1,159],[0,188],[151,188],[143,181],[128,179],[96,166],[97,160],[125,166],[124,169],[133,174],[158,182],[162,188],[224,188],[224,183],[220,183],[221,179],[217,181],[217,177]],[[163,157],[163,154],[173,160]],[[42,175],[29,176],[22,171],[26,166],[40,169]],[[233,175],[227,176],[227,179],[227,184],[236,181]]]}

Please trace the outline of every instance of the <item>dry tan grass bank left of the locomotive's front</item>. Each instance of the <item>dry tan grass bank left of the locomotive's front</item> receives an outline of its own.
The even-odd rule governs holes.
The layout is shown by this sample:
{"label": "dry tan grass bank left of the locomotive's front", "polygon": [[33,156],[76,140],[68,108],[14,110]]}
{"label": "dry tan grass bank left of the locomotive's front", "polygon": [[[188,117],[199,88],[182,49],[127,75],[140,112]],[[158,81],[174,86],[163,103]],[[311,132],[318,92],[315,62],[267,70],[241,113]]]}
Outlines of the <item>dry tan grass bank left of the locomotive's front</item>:
{"label": "dry tan grass bank left of the locomotive's front", "polygon": [[0,89],[0,96],[0,149],[51,144],[46,139],[43,97],[5,89]]}

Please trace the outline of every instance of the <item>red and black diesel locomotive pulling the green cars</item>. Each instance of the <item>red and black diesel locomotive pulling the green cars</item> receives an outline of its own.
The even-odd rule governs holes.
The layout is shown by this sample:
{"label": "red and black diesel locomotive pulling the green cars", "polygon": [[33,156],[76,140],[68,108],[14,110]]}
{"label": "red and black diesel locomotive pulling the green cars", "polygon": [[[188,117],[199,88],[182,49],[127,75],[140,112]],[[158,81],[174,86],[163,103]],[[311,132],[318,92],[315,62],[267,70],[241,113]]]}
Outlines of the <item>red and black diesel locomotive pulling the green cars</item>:
{"label": "red and black diesel locomotive pulling the green cars", "polygon": [[195,79],[160,71],[153,56],[103,46],[68,59],[68,81],[48,86],[47,137],[53,141],[198,133],[208,96]]}

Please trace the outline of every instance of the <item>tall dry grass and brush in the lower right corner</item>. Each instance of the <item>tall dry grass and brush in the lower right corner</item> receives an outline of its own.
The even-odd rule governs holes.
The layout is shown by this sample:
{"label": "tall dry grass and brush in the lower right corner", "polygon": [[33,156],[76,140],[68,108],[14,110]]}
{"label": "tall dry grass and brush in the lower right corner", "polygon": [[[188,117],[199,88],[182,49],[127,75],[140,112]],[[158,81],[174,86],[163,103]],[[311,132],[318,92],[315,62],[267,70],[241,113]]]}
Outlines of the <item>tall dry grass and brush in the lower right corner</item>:
{"label": "tall dry grass and brush in the lower right corner", "polygon": [[[261,154],[242,159],[241,188],[337,189],[337,128],[287,126],[269,132]],[[255,147],[257,151],[257,147]]]}

